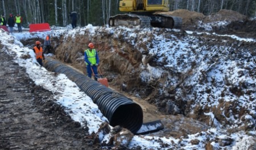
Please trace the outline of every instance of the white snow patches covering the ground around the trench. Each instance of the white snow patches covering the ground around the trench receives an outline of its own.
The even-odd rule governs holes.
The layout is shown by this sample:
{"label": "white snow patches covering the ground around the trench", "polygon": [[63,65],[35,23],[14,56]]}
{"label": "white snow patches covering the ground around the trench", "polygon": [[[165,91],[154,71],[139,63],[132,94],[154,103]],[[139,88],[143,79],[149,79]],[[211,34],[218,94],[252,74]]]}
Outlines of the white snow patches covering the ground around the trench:
{"label": "white snow patches covering the ground around the trench", "polygon": [[[56,28],[56,27],[55,27]],[[97,27],[98,28],[98,27]],[[71,117],[75,120],[81,123],[86,121],[87,126],[89,127],[89,132],[97,132],[98,128],[100,127],[101,123],[106,121],[107,119],[100,113],[100,110],[98,110],[98,106],[93,103],[92,99],[88,97],[84,92],[81,92],[80,89],[77,87],[77,85],[71,80],[67,78],[67,76],[63,74],[59,74],[57,76],[53,75],[52,72],[47,71],[45,68],[40,67],[35,59],[35,54],[32,51],[32,49],[28,49],[22,45],[19,40],[25,40],[25,39],[32,39],[32,38],[44,38],[46,37],[47,33],[51,33],[52,36],[58,37],[60,35],[63,35],[65,33],[66,36],[73,36],[75,38],[76,33],[83,34],[86,31],[90,31],[91,34],[96,33],[95,29],[96,27],[93,27],[92,25],[88,25],[84,28],[77,28],[77,29],[55,29],[51,32],[36,32],[36,33],[14,33],[13,35],[9,35],[6,32],[0,31],[1,33],[1,44],[5,45],[8,49],[7,52],[15,52],[15,62],[17,62],[20,66],[27,68],[27,73],[30,76],[34,82],[49,91],[52,91],[54,93],[55,98],[59,104],[65,106],[67,108],[67,113],[70,113]],[[108,28],[109,32],[115,32],[113,31],[113,28]],[[126,30],[129,32],[130,28],[122,28],[122,30]],[[179,31],[177,31],[179,32]],[[130,32],[130,37],[135,37],[136,35],[133,32]],[[193,38],[193,35],[191,31],[187,31],[189,34],[188,38]],[[200,34],[200,33],[198,33]],[[225,36],[225,35],[218,35],[218,36]],[[235,38],[236,40],[243,40],[243,41],[251,41],[256,42],[253,39],[247,39],[247,38],[239,38],[237,36],[230,36],[232,38]],[[144,39],[146,40],[146,39]],[[131,41],[133,42],[133,41]],[[169,62],[166,67],[176,67],[177,70],[180,72],[186,72],[189,70],[190,66],[179,66],[177,64],[177,58],[181,55],[190,55],[189,53],[183,53],[184,51],[181,51],[179,53],[175,53],[175,55],[172,55],[177,47],[179,49],[187,49],[189,46],[189,41],[186,41],[184,39],[176,39],[175,41],[169,41],[166,38],[164,38],[162,35],[155,35],[155,40],[152,42],[153,46],[148,47],[151,54],[159,54],[159,61],[162,60],[163,55],[168,56],[167,62]],[[176,46],[170,46],[170,45],[176,45]],[[196,47],[196,44],[193,46]],[[161,48],[161,49],[159,49]],[[202,51],[203,48],[196,49],[197,52]],[[170,54],[169,54],[170,53]],[[216,52],[217,53],[217,52]],[[22,59],[20,56],[24,54],[30,54],[31,58],[28,59]],[[202,53],[203,54],[203,53]],[[189,58],[189,57],[188,57]],[[203,60],[203,56],[198,59]],[[192,58],[189,58],[192,59]],[[165,59],[166,60],[166,59]],[[183,59],[183,61],[187,62],[189,60]],[[214,66],[217,69],[217,72],[210,72],[210,74],[214,74],[215,80],[220,80],[225,74],[221,73],[221,70],[228,70],[228,68],[225,68],[227,66],[230,66],[234,64],[233,67],[234,74],[235,72],[238,72],[240,70],[239,67],[236,66],[235,62],[228,62],[229,65],[226,63],[220,63],[218,66]],[[245,62],[252,63],[252,62]],[[251,64],[255,65],[255,64]],[[207,70],[208,68],[205,68],[205,65],[202,61],[201,69]],[[159,75],[160,70],[155,67],[151,66],[143,66],[147,68],[147,71],[144,71],[141,75],[141,78],[146,82],[149,78],[156,78],[155,76]],[[158,73],[157,73],[158,72]],[[37,76],[40,75],[42,78],[37,78]],[[235,75],[234,75],[235,76]],[[208,85],[197,85],[196,84],[196,76],[191,78],[191,82],[195,82],[195,87],[197,89],[205,88]],[[248,76],[243,76],[239,80],[237,78],[229,79],[233,82],[240,82],[240,80],[247,80],[250,84],[255,84],[255,78],[249,78]],[[56,81],[55,85],[53,86],[51,83],[52,81]],[[205,86],[205,87],[203,87]],[[213,89],[212,89],[213,90]],[[220,89],[215,89],[216,95],[220,95],[218,91],[221,91]],[[191,96],[192,97],[192,96]],[[191,98],[190,97],[190,98]],[[212,105],[216,106],[217,104],[213,101],[208,102],[207,101],[207,95],[200,96],[201,105]],[[216,96],[217,97],[217,96]],[[228,100],[230,97],[226,97]],[[245,102],[248,97],[241,97],[239,101],[241,102],[240,105],[247,105]],[[254,100],[250,104],[251,109],[250,111],[255,114],[255,93],[254,93]],[[254,105],[254,106],[253,106]],[[72,110],[72,111],[70,111]],[[213,113],[208,113],[207,115],[212,115]],[[247,115],[247,119],[252,119],[250,115]],[[232,119],[232,118],[230,118]],[[236,120],[232,120],[236,121]],[[205,143],[208,143],[209,141],[212,141],[214,139],[214,142],[211,142],[210,144],[213,146],[214,149],[249,149],[251,145],[254,145],[254,148],[256,148],[255,145],[255,136],[256,131],[239,131],[234,132],[233,134],[228,134],[226,129],[221,128],[220,123],[217,121],[214,122],[214,125],[217,127],[209,128],[206,131],[201,131],[197,134],[188,135],[187,137],[175,139],[172,137],[156,137],[156,136],[148,136],[148,135],[135,135],[134,138],[129,143],[129,147],[137,147],[138,145],[142,147],[142,149],[205,149]],[[254,124],[255,126],[255,124]],[[110,135],[104,135],[103,140],[108,141],[110,139]],[[230,140],[230,144],[226,145],[225,141]],[[193,144],[193,143],[197,144]],[[163,146],[164,145],[164,146]],[[251,147],[252,148],[252,147]]]}

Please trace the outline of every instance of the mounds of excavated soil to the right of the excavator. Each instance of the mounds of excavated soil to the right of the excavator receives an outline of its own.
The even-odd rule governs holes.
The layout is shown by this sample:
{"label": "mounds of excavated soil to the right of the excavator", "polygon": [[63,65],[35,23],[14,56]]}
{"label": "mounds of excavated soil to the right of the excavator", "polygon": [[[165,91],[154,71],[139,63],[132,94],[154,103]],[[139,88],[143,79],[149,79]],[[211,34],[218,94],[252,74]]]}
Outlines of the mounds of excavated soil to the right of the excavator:
{"label": "mounds of excavated soil to the right of the excavator", "polygon": [[[204,28],[200,24],[215,24],[212,32],[220,34],[238,35],[241,37],[256,36],[256,20],[250,20],[247,16],[240,14],[233,10],[220,10],[214,14],[205,16],[202,13],[179,9],[169,12],[158,12],[158,14],[166,14],[172,16],[179,16],[182,18],[182,29],[192,31],[203,31]],[[217,22],[227,22],[227,26],[218,26]]]}

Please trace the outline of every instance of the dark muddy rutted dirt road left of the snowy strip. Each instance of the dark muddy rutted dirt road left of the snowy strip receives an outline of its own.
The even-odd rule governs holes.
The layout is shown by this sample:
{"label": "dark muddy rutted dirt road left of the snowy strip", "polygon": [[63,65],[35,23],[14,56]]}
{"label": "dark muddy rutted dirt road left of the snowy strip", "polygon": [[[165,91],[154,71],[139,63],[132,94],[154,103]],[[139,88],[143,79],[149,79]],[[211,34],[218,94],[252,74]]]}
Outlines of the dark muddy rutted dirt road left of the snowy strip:
{"label": "dark muddy rutted dirt road left of the snowy strip", "polygon": [[[0,45],[0,47],[2,47]],[[93,149],[81,127],[0,49],[0,149]],[[40,78],[40,76],[39,76]]]}

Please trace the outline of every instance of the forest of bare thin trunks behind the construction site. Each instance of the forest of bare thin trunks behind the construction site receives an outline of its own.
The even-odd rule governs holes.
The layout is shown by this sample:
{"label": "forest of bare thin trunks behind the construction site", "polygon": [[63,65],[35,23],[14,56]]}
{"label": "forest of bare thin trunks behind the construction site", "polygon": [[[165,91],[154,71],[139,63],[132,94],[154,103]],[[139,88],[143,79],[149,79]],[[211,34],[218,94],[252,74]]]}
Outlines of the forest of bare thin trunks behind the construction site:
{"label": "forest of bare thin trunks behind the construction site", "polygon": [[[137,0],[138,1],[138,0]],[[163,0],[165,1],[165,0]],[[170,11],[187,9],[209,15],[221,9],[233,10],[246,16],[255,16],[256,0],[168,0]],[[119,12],[119,0],[1,0],[0,13],[20,14],[23,27],[33,23],[63,26],[71,23],[69,12],[77,11],[77,25],[106,25],[110,16]]]}

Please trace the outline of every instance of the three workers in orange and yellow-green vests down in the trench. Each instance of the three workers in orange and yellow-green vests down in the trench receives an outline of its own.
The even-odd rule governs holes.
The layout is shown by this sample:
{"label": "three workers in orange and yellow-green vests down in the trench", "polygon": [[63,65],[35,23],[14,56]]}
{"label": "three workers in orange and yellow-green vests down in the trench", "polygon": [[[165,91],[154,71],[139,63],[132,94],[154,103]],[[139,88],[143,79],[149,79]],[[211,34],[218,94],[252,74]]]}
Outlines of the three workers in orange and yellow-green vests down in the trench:
{"label": "three workers in orange and yellow-green vests down in the trench", "polygon": [[[51,43],[49,41],[50,36],[46,36],[46,40],[44,41],[44,46],[46,48],[51,48]],[[43,66],[43,61],[45,59],[44,57],[44,50],[40,46],[41,42],[36,41],[35,47],[33,48],[33,51],[36,55],[36,61],[39,63],[39,65]],[[98,79],[98,63],[100,62],[100,59],[98,58],[98,53],[96,49],[94,49],[94,44],[90,42],[88,44],[88,49],[84,50],[84,62],[86,64],[86,71],[89,78],[92,78],[92,74],[94,74],[94,80]]]}

